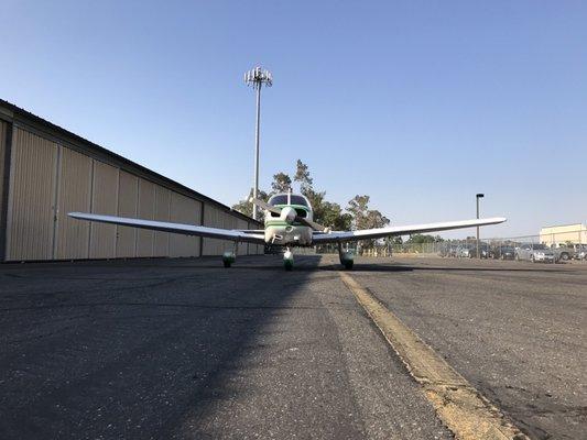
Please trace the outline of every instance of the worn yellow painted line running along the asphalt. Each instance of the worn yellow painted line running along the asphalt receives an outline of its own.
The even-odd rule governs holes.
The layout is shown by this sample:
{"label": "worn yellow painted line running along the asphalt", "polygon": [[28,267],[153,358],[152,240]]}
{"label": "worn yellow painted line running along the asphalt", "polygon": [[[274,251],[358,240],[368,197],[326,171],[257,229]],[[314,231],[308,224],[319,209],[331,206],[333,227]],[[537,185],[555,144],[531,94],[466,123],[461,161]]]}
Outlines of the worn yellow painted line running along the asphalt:
{"label": "worn yellow painted line running along the asphalt", "polygon": [[339,274],[457,439],[529,439],[369,290],[349,274]]}

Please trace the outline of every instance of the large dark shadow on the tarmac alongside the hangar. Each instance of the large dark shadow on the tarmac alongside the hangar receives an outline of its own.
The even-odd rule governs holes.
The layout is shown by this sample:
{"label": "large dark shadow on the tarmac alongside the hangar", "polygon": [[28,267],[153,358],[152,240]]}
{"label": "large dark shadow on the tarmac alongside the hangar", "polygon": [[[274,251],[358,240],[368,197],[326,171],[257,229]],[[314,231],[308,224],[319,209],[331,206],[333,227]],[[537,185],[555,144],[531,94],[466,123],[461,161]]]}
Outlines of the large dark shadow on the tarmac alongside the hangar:
{"label": "large dark shadow on the tarmac alongside the hangar", "polygon": [[[0,438],[218,438],[242,429],[221,413],[247,393],[235,377],[271,343],[268,322],[295,308],[289,302],[319,260],[300,257],[279,277],[281,260],[264,257],[230,270],[102,264],[88,280],[80,277],[90,265],[4,277]],[[141,274],[166,282],[144,285]]]}

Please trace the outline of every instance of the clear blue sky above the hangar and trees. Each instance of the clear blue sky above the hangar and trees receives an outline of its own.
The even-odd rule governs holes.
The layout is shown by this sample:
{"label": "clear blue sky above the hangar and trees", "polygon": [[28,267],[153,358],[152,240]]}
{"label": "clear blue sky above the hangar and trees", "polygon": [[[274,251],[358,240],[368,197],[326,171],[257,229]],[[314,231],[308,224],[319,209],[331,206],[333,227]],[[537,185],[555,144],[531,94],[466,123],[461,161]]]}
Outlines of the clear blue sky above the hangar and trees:
{"label": "clear blue sky above the hangar and trees", "polygon": [[[395,224],[587,219],[583,1],[4,0],[0,97],[232,205],[302,158]],[[461,233],[459,233],[461,234]]]}

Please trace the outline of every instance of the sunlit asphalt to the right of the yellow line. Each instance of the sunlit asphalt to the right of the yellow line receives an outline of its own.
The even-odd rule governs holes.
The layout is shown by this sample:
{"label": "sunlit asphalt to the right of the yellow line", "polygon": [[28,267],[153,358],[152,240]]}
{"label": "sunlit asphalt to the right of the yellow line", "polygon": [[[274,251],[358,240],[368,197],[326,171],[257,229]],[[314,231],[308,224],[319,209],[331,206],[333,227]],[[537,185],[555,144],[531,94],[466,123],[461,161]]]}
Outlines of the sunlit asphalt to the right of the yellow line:
{"label": "sunlit asphalt to the right of the yellow line", "polygon": [[352,276],[534,439],[587,439],[587,264],[369,260]]}

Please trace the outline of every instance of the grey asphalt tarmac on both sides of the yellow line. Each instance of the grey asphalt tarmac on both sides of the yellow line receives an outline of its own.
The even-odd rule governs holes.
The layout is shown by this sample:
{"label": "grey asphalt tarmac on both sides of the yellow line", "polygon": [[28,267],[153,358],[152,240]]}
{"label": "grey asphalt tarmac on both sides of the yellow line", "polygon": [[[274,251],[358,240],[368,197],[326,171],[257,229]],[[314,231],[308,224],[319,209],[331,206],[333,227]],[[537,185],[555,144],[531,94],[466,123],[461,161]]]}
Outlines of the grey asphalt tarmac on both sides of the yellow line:
{"label": "grey asphalt tarmac on both sides of the yellow line", "polygon": [[[0,439],[448,439],[334,256],[0,265]],[[587,264],[350,273],[524,432],[585,438]]]}

